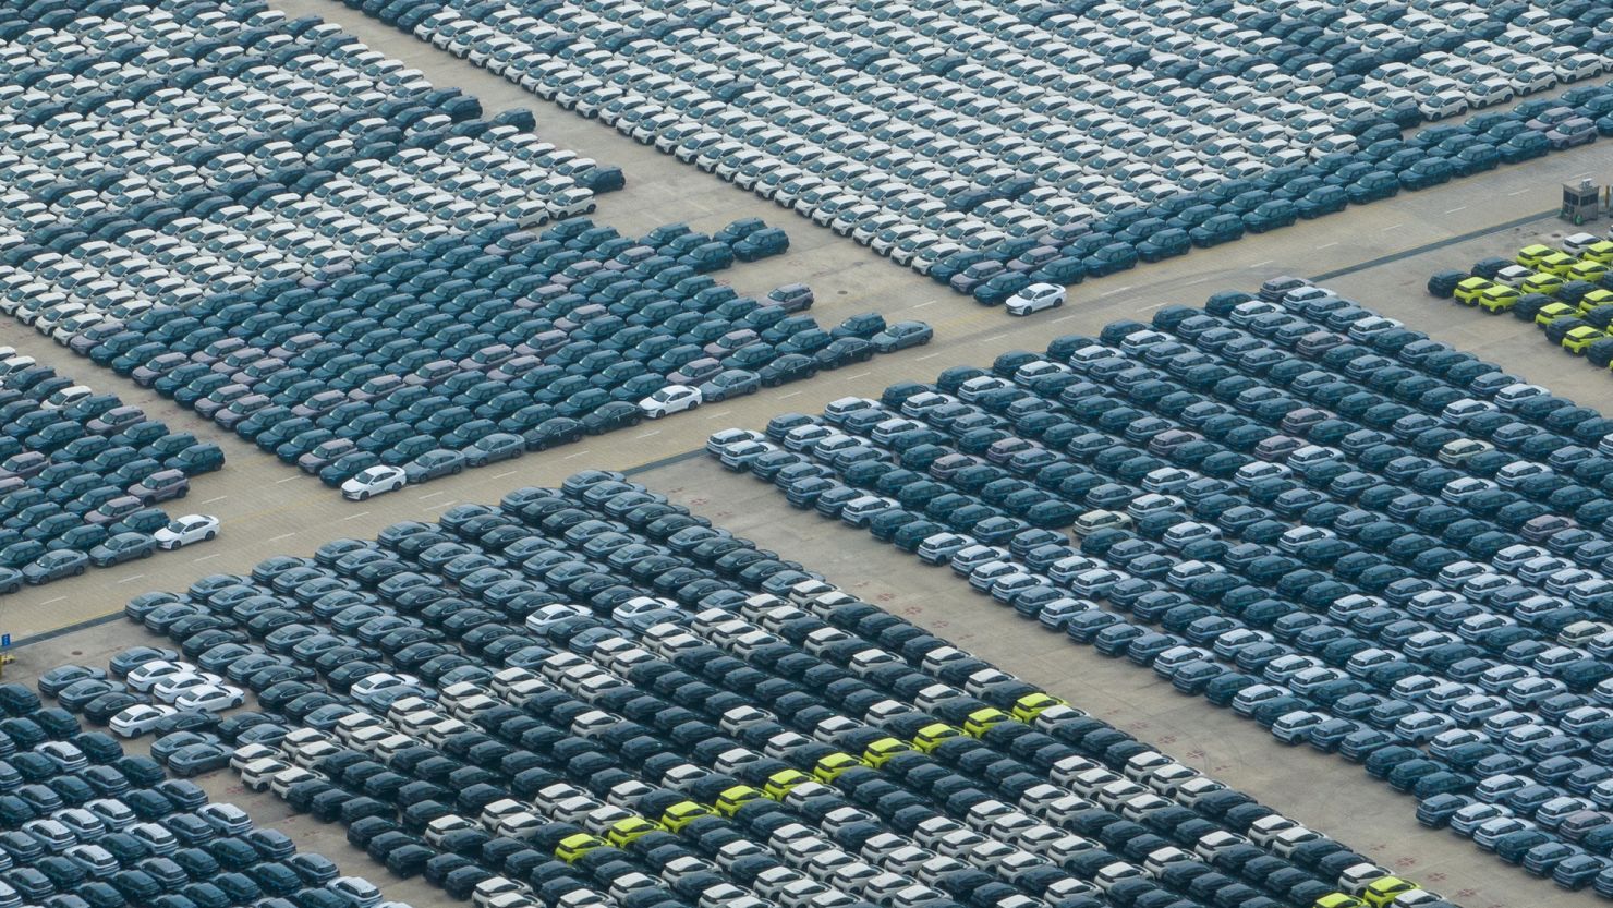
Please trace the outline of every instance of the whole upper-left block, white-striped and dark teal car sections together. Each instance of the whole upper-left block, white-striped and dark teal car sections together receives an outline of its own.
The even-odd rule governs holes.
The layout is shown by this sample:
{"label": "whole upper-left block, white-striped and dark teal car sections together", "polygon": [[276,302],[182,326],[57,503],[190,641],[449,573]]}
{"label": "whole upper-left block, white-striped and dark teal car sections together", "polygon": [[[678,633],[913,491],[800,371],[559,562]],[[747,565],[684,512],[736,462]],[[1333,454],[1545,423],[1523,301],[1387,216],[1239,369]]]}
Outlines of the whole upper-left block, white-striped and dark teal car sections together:
{"label": "whole upper-left block, white-striped and dark teal car sections together", "polygon": [[[100,82],[65,76],[29,89],[10,139],[29,156],[11,176],[60,185],[134,168],[142,179],[6,208],[16,235],[0,253],[0,311],[348,497],[931,337],[923,323],[886,326],[877,314],[823,331],[795,314],[811,305],[802,285],[766,305],[719,287],[706,273],[787,248],[760,221],[716,235],[671,224],[642,242],[581,216],[529,232],[552,215],[592,211],[592,195],[573,195],[590,194],[577,181],[600,168],[523,132],[529,115],[474,119],[479,106],[463,95],[431,92],[315,18],[189,3],[58,27],[29,32],[13,68],[53,66],[68,44],[84,44],[77,32],[87,50],[121,47],[115,39],[131,29],[150,48],[106,63]],[[258,66],[224,53],[263,44],[276,50]],[[210,74],[192,58],[234,63]],[[363,148],[334,153],[329,129],[303,129],[319,140],[300,150],[260,140],[268,129],[302,135],[294,123],[305,119],[345,121],[352,137],[337,145]],[[239,153],[215,142],[218,155],[203,155],[187,132],[221,140],[242,121],[253,132],[237,137]],[[168,179],[163,197],[150,195],[145,171]],[[545,208],[552,195],[571,198],[568,208]],[[521,205],[539,210],[511,208]]]}

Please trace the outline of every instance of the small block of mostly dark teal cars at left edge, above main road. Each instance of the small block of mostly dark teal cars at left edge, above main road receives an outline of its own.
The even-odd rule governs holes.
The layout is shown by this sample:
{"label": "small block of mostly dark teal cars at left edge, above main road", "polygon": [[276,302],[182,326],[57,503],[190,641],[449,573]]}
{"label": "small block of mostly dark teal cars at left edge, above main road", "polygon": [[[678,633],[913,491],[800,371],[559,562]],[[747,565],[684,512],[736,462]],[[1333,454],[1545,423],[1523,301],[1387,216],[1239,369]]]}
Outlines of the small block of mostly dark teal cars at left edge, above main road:
{"label": "small block of mostly dark teal cars at left edge, above main road", "polygon": [[169,548],[158,505],[224,464],[115,394],[0,347],[0,594]]}

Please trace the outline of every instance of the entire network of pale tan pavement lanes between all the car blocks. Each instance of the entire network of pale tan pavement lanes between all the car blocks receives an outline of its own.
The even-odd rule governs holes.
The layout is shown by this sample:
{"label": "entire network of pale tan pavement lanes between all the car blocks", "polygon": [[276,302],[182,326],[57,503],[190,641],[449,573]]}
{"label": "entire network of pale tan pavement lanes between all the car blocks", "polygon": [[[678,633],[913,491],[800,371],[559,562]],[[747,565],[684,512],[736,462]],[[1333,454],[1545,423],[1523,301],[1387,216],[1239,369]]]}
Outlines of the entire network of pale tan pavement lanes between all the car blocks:
{"label": "entire network of pale tan pavement lanes between all the car blocks", "polygon": [[[419,68],[439,85],[458,85],[482,98],[489,113],[531,108],[539,134],[600,161],[621,165],[627,189],[602,197],[598,223],[642,234],[673,221],[713,231],[745,216],[761,216],[792,237],[787,255],[740,264],[719,277],[742,294],[765,294],[787,282],[816,290],[813,314],[824,326],[861,313],[887,319],[921,318],[936,326],[929,347],[876,358],[865,366],[824,373],[811,382],[769,389],[734,403],[710,405],[639,429],[586,439],[569,448],[466,471],[421,487],[344,502],[316,479],[287,468],[255,447],[224,434],[155,394],[77,360],[50,340],[5,331],[3,342],[48,361],[97,390],[116,390],[129,403],[169,423],[218,440],[227,456],[221,473],[203,476],[171,513],[218,514],[218,540],[174,553],[89,571],[8,595],[0,632],[11,634],[16,663],[6,679],[27,681],[63,661],[105,660],[116,650],[150,642],[140,629],[116,619],[132,595],[184,589],[219,571],[247,571],[277,553],[310,553],[336,537],[373,537],[400,519],[431,519],[460,502],[495,502],[516,485],[558,484],[584,468],[632,471],[650,484],[760,544],[824,571],[844,587],[900,611],[1002,668],[1047,685],[1071,702],[1165,745],[1177,758],[1205,768],[1284,813],[1334,834],[1405,871],[1468,908],[1523,905],[1589,905],[1589,893],[1563,893],[1515,868],[1481,855],[1469,843],[1416,827],[1411,803],[1332,756],[1276,745],[1266,732],[1227,713],[1205,710],[1197,698],[1176,695],[1152,673],[1111,663],[1058,635],[1002,614],[944,573],[873,544],[858,531],[800,514],[771,489],[716,468],[698,452],[708,432],[726,426],[760,427],[781,411],[816,411],[848,394],[877,395],[902,379],[932,377],[942,368],[989,363],[1005,350],[1039,350],[1060,334],[1095,334],[1119,318],[1147,319],[1171,303],[1200,303],[1221,289],[1253,289],[1274,274],[1329,274],[1327,284],[1408,326],[1473,350],[1507,369],[1581,403],[1613,408],[1613,376],[1553,350],[1531,326],[1429,297],[1423,282],[1440,268],[1466,266],[1486,255],[1507,255],[1528,242],[1550,242],[1573,232],[1555,219],[1560,184],[1613,174],[1613,144],[1550,155],[1523,166],[1439,189],[1402,195],[1273,234],[1197,250],[1184,258],[1090,281],[1071,292],[1055,313],[1011,319],[915,276],[857,244],[836,237],[795,215],[723,181],[637,145],[613,129],[545,105],[498,77],[452,58],[329,0],[281,0],[290,15],[319,13],[358,34],[366,44]],[[1581,229],[1605,232],[1607,223]],[[8,323],[10,324],[10,323]],[[1318,784],[1324,779],[1324,784]],[[398,884],[347,847],[340,827],[289,816],[273,795],[240,792],[229,773],[203,779],[215,797],[250,810],[260,823],[294,834],[303,848],[321,852],[344,869],[382,882],[389,897],[416,906],[445,903],[424,884]]]}

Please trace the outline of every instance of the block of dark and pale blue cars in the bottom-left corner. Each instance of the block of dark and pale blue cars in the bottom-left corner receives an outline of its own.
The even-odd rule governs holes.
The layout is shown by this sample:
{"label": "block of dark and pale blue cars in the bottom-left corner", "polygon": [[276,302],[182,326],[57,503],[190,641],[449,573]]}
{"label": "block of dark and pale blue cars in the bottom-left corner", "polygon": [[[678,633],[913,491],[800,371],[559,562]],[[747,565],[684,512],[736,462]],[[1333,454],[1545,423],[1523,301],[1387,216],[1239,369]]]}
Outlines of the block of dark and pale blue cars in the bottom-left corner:
{"label": "block of dark and pale blue cars in the bottom-left corner", "polygon": [[[39,689],[77,703],[87,682],[142,684],[144,671],[168,664],[163,656],[173,652],[137,647],[113,656],[110,673],[58,666]],[[239,806],[210,802],[195,782],[166,777],[156,760],[124,755],[115,737],[82,731],[69,710],[44,706],[21,684],[0,685],[0,710],[6,905],[408,908],[382,902],[361,877],[340,876],[323,855],[300,853],[284,832],[255,827]],[[169,727],[160,743],[177,747],[187,734]]]}

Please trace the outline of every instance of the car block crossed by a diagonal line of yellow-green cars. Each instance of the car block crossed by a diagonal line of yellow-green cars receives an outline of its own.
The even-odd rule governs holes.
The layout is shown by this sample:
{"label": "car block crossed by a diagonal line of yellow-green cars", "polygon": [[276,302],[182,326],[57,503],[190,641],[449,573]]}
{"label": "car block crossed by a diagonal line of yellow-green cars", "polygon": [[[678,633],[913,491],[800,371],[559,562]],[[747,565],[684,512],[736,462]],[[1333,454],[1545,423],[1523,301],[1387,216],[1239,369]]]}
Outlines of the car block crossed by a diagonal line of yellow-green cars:
{"label": "car block crossed by a diagonal line of yellow-green cars", "polygon": [[282,673],[245,785],[479,906],[1450,905],[621,474],[127,613],[176,606]]}

